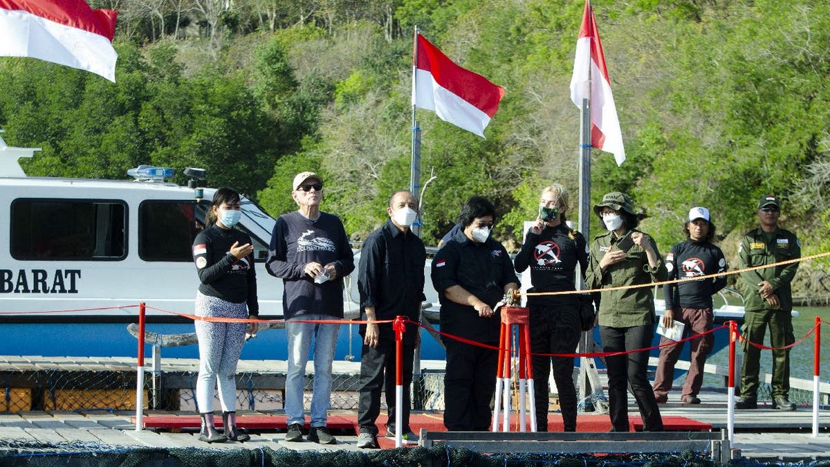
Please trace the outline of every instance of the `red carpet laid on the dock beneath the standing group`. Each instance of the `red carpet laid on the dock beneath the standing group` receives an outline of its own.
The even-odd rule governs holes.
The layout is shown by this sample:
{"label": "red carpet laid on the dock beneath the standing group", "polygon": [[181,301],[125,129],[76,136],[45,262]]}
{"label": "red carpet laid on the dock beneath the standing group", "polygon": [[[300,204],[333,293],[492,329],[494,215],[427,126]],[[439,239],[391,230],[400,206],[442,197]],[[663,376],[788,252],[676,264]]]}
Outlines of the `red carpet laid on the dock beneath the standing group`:
{"label": "red carpet laid on the dock beneath the standing group", "polygon": [[[357,414],[334,414],[329,415],[327,426],[330,430],[354,430],[358,432]],[[386,435],[386,415],[378,417],[377,425],[380,431],[379,437]],[[135,422],[135,418],[132,419]],[[517,426],[519,415],[512,414],[510,417],[510,430],[518,431]],[[222,417],[216,417],[217,426],[222,426]],[[162,430],[198,429],[201,420],[198,415],[175,415],[170,413],[144,415],[144,428],[156,428]],[[237,425],[249,430],[287,430],[286,415],[237,415]],[[409,425],[417,433],[422,428],[430,431],[446,431],[444,419],[441,413],[415,413],[409,417]],[[639,416],[630,415],[628,425],[632,431],[642,430],[642,420]],[[712,425],[703,423],[680,415],[666,415],[663,417],[663,425],[666,431],[709,431]],[[305,428],[308,428],[308,422]],[[562,416],[551,413],[548,416],[548,431],[562,431]],[[577,416],[578,431],[606,432],[611,430],[611,420],[608,415],[580,414]],[[391,440],[390,440],[391,441]]]}

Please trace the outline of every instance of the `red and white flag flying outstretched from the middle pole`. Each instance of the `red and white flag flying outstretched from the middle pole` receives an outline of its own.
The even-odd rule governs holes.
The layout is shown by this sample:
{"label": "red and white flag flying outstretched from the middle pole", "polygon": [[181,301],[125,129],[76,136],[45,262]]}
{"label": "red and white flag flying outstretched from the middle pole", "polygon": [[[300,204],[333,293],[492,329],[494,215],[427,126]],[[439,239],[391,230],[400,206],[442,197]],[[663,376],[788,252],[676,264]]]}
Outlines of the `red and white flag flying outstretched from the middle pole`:
{"label": "red and white flag flying outstretched from the middle pole", "polygon": [[484,138],[505,90],[457,66],[422,35],[415,41],[413,106]]}

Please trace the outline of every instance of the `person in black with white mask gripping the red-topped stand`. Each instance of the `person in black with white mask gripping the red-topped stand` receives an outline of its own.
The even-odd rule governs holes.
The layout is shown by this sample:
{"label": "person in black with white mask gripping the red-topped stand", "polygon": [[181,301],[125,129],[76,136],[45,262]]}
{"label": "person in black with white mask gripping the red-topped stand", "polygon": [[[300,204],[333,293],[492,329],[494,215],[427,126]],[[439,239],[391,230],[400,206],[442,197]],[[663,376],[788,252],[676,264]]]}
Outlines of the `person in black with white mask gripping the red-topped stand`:
{"label": "person in black with white mask gripping the red-topped stand", "polygon": [[[441,302],[441,331],[498,347],[500,317],[493,307],[519,288],[513,263],[501,243],[491,238],[496,209],[473,196],[461,208],[463,230],[432,259],[432,285]],[[444,425],[451,431],[486,431],[490,401],[496,391],[498,352],[444,337]]]}

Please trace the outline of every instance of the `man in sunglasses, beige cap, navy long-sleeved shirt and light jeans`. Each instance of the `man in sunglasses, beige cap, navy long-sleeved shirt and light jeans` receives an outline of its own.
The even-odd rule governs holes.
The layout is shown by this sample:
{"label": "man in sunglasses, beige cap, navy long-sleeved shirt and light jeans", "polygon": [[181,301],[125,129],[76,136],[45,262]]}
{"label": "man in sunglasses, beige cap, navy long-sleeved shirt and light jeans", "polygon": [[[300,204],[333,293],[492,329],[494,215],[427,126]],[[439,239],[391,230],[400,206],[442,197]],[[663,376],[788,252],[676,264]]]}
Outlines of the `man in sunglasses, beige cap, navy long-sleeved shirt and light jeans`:
{"label": "man in sunglasses, beige cap, navy long-sleeved shirt and light jeans", "polygon": [[301,172],[291,184],[299,207],[276,219],[268,248],[268,273],[282,278],[282,308],[288,337],[286,375],[286,441],[302,441],[305,364],[314,340],[314,388],[308,439],[321,445],[337,440],[326,428],[331,395],[331,366],[339,324],[319,322],[343,319],[343,278],[354,270],[354,255],[343,223],[320,211],[323,179]]}

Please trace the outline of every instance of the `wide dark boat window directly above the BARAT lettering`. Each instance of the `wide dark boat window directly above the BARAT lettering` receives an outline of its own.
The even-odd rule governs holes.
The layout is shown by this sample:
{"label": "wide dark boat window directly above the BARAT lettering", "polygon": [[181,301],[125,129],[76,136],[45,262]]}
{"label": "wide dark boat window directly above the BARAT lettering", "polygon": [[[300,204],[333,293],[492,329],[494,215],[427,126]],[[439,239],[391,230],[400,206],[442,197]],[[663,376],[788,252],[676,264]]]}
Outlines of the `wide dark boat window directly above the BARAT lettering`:
{"label": "wide dark boat window directly above the BARAT lettering", "polygon": [[11,218],[15,259],[114,261],[127,256],[123,201],[15,199]]}

